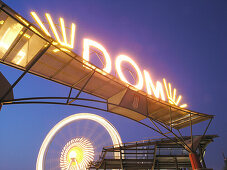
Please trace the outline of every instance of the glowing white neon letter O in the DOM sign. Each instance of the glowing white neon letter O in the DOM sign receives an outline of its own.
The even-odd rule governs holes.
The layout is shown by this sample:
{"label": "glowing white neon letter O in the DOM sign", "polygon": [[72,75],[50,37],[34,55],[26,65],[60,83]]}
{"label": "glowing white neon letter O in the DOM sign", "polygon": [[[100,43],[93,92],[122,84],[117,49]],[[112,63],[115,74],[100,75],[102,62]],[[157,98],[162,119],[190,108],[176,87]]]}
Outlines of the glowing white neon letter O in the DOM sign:
{"label": "glowing white neon letter O in the DOM sign", "polygon": [[[141,90],[143,88],[143,75],[138,67],[138,65],[136,64],[135,61],[133,61],[130,57],[126,56],[126,55],[119,55],[116,59],[116,70],[117,70],[117,73],[120,77],[120,79],[128,84],[131,84],[128,82],[128,80],[126,79],[126,77],[124,76],[123,72],[122,72],[122,69],[121,69],[121,63],[123,61],[126,61],[128,63],[130,63],[133,68],[136,70],[136,73],[138,75],[138,83],[136,85],[133,85],[135,88]],[[132,84],[131,84],[132,85]]]}

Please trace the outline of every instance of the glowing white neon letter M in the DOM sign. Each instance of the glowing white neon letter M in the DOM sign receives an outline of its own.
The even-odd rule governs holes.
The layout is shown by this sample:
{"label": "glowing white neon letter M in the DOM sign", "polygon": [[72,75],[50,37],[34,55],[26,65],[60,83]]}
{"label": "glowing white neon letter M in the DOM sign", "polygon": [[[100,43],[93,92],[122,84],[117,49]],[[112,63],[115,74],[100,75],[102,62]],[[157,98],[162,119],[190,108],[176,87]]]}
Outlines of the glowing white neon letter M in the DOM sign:
{"label": "glowing white neon letter M in the DOM sign", "polygon": [[164,95],[164,90],[162,87],[162,84],[157,81],[156,82],[156,87],[150,77],[150,74],[144,70],[144,77],[145,77],[145,82],[146,82],[146,87],[147,87],[147,93],[149,95],[152,95],[152,93],[154,94],[155,97],[160,98],[165,101],[165,95]]}

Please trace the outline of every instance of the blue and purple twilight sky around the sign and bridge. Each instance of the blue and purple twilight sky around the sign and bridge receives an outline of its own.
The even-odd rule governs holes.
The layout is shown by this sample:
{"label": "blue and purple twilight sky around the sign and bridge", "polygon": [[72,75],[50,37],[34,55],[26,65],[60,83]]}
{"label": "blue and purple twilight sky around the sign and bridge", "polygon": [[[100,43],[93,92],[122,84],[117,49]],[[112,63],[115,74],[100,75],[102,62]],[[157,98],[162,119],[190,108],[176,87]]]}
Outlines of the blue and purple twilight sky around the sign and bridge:
{"label": "blue and purple twilight sky around the sign and bridge", "polygon": [[[167,78],[183,95],[189,109],[214,114],[208,134],[220,137],[206,151],[207,167],[223,166],[227,155],[227,1],[220,0],[8,0],[16,12],[33,22],[49,12],[55,19],[75,22],[75,52],[82,54],[83,38],[101,43],[112,61],[119,54],[133,58],[154,80]],[[113,67],[114,69],[114,67]],[[21,71],[0,65],[13,83]],[[114,71],[113,71],[114,72]],[[112,72],[112,73],[113,73]],[[15,98],[66,96],[69,89],[26,75],[14,90]],[[56,105],[3,106],[0,119],[0,169],[35,169],[39,147],[49,130],[63,118],[80,112],[105,117],[119,131],[123,142],[157,136],[126,118],[97,110]],[[196,125],[200,132],[204,124]]]}

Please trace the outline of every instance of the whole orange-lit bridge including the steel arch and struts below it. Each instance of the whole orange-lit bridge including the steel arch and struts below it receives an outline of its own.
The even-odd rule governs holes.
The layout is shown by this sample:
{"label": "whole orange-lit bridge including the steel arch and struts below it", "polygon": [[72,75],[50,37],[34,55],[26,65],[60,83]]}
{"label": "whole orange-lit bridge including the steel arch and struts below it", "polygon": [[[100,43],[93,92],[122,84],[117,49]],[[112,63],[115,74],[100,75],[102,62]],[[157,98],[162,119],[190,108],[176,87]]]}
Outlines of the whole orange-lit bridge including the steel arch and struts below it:
{"label": "whole orange-lit bridge including the steel arch and struts below it", "polygon": [[[23,71],[1,96],[1,105],[58,104],[118,114],[160,133],[189,153],[195,153],[198,148],[192,126],[208,121],[200,138],[200,141],[204,140],[213,115],[167,103],[135,89],[92,64],[86,65],[79,55],[63,50],[54,39],[46,36],[3,2],[0,2],[0,23],[0,62]],[[100,55],[98,52],[96,54]],[[68,96],[6,99],[27,73],[69,87]],[[77,90],[76,96],[72,96],[73,90]],[[82,98],[81,93],[95,98]],[[86,104],[77,103],[78,101],[85,101]],[[185,127],[190,127],[190,142],[180,132]]]}

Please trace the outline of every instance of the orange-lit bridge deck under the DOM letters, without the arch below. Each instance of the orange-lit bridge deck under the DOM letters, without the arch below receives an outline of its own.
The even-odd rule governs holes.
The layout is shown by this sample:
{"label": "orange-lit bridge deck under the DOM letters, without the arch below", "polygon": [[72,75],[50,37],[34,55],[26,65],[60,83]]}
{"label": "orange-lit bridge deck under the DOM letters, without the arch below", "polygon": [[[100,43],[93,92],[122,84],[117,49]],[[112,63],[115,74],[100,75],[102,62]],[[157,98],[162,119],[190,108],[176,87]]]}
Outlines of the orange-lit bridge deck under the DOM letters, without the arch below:
{"label": "orange-lit bridge deck under the DOM letters, without the arch below", "polygon": [[82,57],[63,49],[3,2],[0,5],[1,63],[102,98],[109,112],[136,121],[151,118],[180,129],[213,117],[169,104],[84,64]]}

